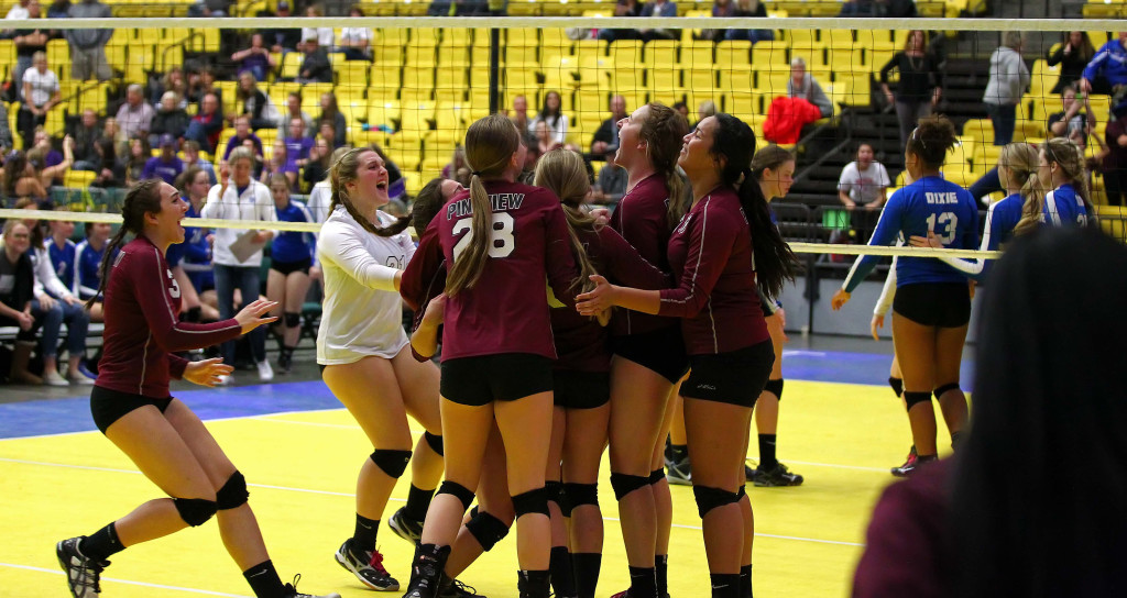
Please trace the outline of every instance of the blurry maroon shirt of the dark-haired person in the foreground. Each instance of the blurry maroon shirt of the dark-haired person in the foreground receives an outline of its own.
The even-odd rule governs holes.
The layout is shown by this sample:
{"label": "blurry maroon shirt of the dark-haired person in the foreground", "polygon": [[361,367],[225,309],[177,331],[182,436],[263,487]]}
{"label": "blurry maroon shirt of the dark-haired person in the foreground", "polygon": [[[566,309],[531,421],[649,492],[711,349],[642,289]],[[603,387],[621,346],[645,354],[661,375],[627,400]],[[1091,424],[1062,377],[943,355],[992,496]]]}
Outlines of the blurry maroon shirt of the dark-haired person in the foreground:
{"label": "blurry maroon shirt of the dark-haired person in the foreground", "polygon": [[854,598],[950,596],[951,470],[942,459],[885,489],[853,575]]}

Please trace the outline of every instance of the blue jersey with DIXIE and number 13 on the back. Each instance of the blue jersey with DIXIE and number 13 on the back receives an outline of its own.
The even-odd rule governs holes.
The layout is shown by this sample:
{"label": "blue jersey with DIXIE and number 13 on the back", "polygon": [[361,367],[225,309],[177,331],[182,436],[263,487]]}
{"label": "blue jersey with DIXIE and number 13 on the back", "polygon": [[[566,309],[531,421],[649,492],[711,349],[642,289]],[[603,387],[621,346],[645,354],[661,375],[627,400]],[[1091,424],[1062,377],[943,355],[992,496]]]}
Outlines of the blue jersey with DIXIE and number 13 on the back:
{"label": "blue jersey with DIXIE and number 13 on the back", "polygon": [[[926,236],[934,232],[948,249],[978,248],[978,206],[970,193],[940,177],[924,177],[888,199],[870,246],[891,246],[900,234]],[[863,256],[853,264],[843,288],[852,293],[877,266],[879,256]],[[919,283],[961,283],[966,275],[934,258],[902,256],[896,260],[896,286]]]}

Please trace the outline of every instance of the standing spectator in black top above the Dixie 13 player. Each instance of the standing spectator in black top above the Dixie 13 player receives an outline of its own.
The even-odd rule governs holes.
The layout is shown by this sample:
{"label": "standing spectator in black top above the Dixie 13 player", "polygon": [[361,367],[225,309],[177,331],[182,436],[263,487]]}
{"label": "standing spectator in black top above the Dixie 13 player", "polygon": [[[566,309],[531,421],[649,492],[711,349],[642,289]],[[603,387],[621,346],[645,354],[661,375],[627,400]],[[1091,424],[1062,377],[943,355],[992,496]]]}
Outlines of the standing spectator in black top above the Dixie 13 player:
{"label": "standing spectator in black top above the Dixie 13 player", "polygon": [[[888,88],[888,73],[893,70],[900,74],[896,95]],[[928,52],[926,36],[920,29],[909,32],[904,41],[904,48],[880,69],[880,89],[888,104],[896,107],[896,117],[900,124],[900,146],[907,146],[908,134],[916,123],[931,115],[939,104],[942,86],[943,73],[935,57]]]}

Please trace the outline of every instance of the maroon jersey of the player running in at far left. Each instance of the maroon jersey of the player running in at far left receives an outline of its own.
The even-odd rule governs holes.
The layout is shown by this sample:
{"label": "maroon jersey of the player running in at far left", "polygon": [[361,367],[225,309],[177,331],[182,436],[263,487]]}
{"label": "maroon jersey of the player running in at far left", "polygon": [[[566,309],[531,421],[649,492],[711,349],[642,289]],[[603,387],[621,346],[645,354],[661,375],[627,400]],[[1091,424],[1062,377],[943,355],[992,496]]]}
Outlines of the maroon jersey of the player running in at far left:
{"label": "maroon jersey of the player running in at far left", "polygon": [[188,362],[171,351],[202,349],[239,338],[239,322],[189,324],[177,320],[180,287],[165,255],[144,236],[126,243],[109,270],[106,329],[96,385],[165,399],[169,378],[179,380]]}

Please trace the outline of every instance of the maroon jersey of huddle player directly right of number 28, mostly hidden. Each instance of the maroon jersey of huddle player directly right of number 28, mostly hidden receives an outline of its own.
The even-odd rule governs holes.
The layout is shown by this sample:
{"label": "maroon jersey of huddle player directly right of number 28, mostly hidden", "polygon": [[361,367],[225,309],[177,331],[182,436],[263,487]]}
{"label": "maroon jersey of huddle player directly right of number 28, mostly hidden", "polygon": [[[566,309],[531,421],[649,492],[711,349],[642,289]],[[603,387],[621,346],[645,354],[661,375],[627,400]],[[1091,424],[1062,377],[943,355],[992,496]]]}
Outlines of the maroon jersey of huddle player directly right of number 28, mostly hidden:
{"label": "maroon jersey of huddle player directly right of number 28, mostly hidden", "polygon": [[[646,289],[669,286],[669,277],[642,259],[614,229],[601,226],[596,231],[579,230],[576,234],[592,266],[612,284]],[[629,312],[620,310],[614,316],[624,313]],[[594,319],[579,315],[571,307],[556,307],[552,310],[552,334],[559,352],[556,369],[610,372],[606,329]]]}

